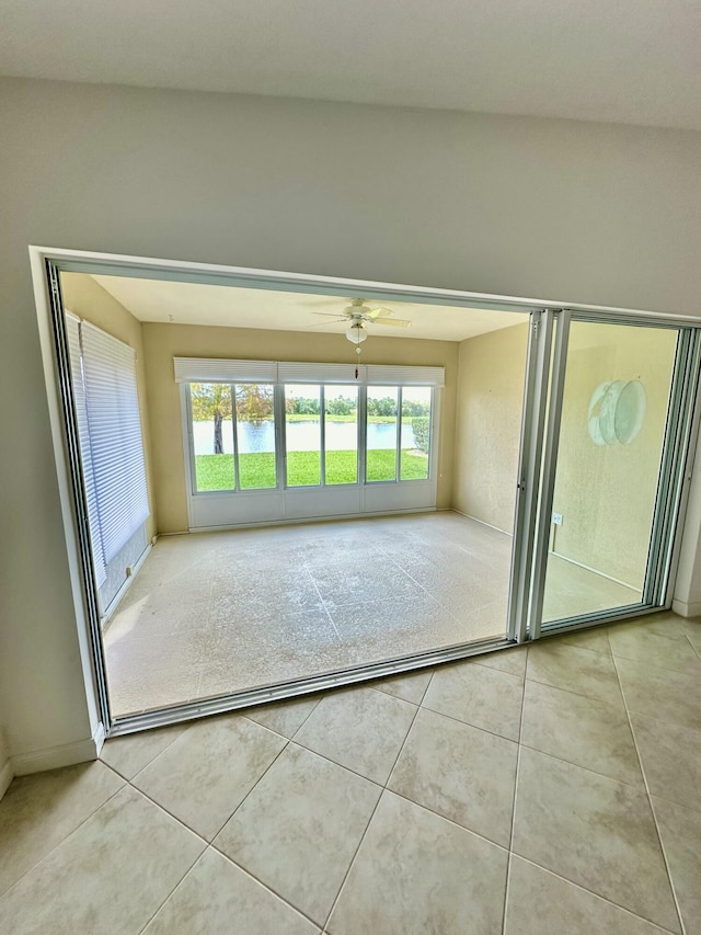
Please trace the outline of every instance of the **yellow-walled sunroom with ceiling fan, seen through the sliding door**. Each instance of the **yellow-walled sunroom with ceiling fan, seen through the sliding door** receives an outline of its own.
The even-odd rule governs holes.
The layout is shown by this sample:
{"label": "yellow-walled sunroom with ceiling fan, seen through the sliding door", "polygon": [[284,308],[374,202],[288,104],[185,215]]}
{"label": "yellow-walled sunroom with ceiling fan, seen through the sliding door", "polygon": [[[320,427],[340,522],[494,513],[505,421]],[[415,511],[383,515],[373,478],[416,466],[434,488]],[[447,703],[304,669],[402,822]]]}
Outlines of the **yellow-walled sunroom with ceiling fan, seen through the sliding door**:
{"label": "yellow-walled sunroom with ceiling fan, seen through the sliding door", "polygon": [[[83,474],[97,474],[88,500],[115,718],[506,636],[527,315],[83,273],[64,273],[61,289],[69,331],[87,329],[82,369],[73,362],[85,385],[73,385],[89,403],[83,448],[99,435]],[[126,498],[113,484],[115,517],[129,512],[114,534],[103,527],[112,475],[130,469],[117,459],[131,417],[95,408],[92,329],[136,356],[142,481]],[[667,360],[634,337],[622,357],[606,328],[573,337],[545,622],[641,601],[675,337]],[[581,418],[613,372],[647,387],[632,466]],[[620,495],[625,470],[636,498]],[[617,504],[618,541],[591,515],[593,484],[604,514]]]}

